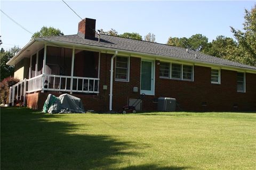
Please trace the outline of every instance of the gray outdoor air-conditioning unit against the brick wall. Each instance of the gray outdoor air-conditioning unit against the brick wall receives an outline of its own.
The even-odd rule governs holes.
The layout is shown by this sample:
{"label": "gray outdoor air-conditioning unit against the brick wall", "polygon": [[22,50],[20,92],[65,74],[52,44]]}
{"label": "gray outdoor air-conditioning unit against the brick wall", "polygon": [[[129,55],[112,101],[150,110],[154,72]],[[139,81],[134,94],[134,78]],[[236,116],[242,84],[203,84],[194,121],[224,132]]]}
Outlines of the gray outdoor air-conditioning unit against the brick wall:
{"label": "gray outdoor air-conditioning unit against the brick wall", "polygon": [[174,112],[176,108],[176,99],[169,97],[159,97],[157,103],[157,111]]}

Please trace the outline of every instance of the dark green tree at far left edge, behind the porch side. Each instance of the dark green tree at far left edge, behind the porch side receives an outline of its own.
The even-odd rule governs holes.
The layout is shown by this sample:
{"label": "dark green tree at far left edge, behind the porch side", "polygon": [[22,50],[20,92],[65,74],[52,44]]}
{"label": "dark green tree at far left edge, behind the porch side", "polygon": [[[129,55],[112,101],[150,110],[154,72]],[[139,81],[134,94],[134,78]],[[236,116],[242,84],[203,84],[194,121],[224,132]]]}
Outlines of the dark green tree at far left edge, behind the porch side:
{"label": "dark green tree at far left edge, behind the porch side", "polygon": [[19,47],[13,47],[10,50],[6,51],[1,48],[0,51],[0,61],[1,61],[1,81],[4,78],[13,76],[14,67],[11,65],[6,65],[6,63],[20,50]]}

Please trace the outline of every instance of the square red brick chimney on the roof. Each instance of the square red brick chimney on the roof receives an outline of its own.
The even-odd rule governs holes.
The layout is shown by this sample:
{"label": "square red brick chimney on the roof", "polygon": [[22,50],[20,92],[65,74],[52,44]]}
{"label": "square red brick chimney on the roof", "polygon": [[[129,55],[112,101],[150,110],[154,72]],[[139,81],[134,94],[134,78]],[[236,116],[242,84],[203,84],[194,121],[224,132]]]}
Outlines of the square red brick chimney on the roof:
{"label": "square red brick chimney on the roof", "polygon": [[85,18],[78,23],[77,34],[87,39],[95,38],[95,24],[96,20]]}

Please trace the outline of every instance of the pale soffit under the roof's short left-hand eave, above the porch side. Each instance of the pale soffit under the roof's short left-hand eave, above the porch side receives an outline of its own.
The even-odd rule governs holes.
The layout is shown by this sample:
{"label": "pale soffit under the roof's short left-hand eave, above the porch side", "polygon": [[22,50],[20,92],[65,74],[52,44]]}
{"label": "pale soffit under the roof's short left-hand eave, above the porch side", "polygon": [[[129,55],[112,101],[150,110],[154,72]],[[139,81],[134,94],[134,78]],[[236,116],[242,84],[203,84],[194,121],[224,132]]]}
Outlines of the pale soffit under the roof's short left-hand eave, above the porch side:
{"label": "pale soffit under the roof's short left-hand eave, above the porch side", "polygon": [[8,61],[6,64],[15,65],[23,58],[29,58],[31,55],[34,55],[37,52],[37,50],[40,50],[43,47],[43,42],[32,40],[25,47],[23,47],[17,55],[12,57],[11,60]]}

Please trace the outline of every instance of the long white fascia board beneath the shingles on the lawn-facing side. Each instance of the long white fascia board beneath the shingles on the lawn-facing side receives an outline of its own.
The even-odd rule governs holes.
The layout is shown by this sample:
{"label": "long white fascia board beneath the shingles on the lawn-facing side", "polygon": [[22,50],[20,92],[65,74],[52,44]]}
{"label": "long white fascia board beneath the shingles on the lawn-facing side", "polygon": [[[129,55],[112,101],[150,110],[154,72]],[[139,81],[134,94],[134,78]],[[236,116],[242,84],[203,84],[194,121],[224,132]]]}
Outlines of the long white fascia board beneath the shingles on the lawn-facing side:
{"label": "long white fascia board beneath the shingles on the lawn-facing side", "polygon": [[150,54],[150,53],[141,53],[141,52],[133,52],[131,50],[124,50],[124,49],[117,49],[117,48],[109,48],[109,47],[102,47],[102,46],[95,46],[95,45],[86,45],[86,44],[77,44],[77,43],[69,43],[69,42],[63,42],[63,41],[56,41],[56,40],[44,40],[43,38],[35,38],[36,41],[44,41],[47,42],[48,45],[52,45],[51,43],[55,45],[60,45],[60,46],[66,46],[69,48],[90,48],[90,49],[96,49],[98,51],[106,51],[109,54],[115,54],[116,50],[121,53],[128,53],[131,56],[134,57],[154,57],[155,60],[159,60],[159,58],[164,58],[166,60],[174,60],[174,61],[180,61],[180,62],[189,62],[189,63],[194,63],[195,65],[198,66],[205,66],[205,67],[220,67],[220,69],[225,69],[225,70],[233,70],[233,71],[241,71],[241,72],[247,72],[247,73],[254,73],[256,74],[256,70],[254,69],[249,69],[249,68],[244,68],[244,67],[238,67],[238,66],[231,66],[231,65],[223,65],[223,64],[215,64],[215,63],[205,63],[201,61],[196,61],[196,60],[190,60],[190,59],[184,59],[184,58],[177,58],[177,57],[171,57],[171,56],[159,56],[155,54]]}

